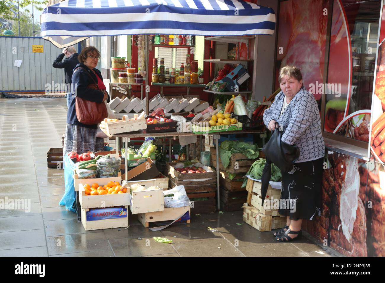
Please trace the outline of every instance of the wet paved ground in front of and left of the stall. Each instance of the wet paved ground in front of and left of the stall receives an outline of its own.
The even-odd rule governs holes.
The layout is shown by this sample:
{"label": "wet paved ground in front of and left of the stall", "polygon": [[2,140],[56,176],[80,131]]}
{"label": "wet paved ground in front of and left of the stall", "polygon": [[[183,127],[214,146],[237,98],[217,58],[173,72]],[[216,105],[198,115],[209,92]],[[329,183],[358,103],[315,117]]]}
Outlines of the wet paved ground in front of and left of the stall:
{"label": "wet paved ground in front of and left of the stall", "polygon": [[190,224],[158,232],[130,214],[128,229],[85,231],[75,213],[59,206],[64,171],[47,168],[48,149],[62,147],[66,113],[64,98],[0,99],[0,201],[30,200],[29,212],[0,209],[0,256],[338,255],[306,233],[298,241],[278,243],[271,232],[243,223],[242,211],[192,215]]}

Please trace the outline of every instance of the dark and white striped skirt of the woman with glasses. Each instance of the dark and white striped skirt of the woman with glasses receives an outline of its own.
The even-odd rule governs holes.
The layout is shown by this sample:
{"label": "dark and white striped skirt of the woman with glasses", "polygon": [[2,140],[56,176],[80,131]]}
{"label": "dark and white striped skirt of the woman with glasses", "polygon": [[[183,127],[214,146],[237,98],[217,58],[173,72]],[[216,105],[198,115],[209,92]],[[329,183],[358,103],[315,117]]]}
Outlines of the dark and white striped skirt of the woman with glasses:
{"label": "dark and white striped skirt of the woman with glasses", "polygon": [[78,154],[87,151],[103,151],[104,140],[96,137],[96,130],[67,124],[64,137],[64,153],[76,151]]}

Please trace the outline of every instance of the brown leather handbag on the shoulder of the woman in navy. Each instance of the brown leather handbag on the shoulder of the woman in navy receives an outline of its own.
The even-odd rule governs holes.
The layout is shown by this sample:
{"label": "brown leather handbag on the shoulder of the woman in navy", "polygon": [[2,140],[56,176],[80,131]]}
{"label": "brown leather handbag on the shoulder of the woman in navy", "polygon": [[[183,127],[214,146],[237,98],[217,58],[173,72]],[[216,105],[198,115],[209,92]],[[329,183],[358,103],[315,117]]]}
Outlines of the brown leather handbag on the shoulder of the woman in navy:
{"label": "brown leather handbag on the shoulder of the woman in navy", "polygon": [[[80,69],[85,70],[83,67],[79,67],[75,69],[74,72]],[[88,88],[101,91],[97,82],[95,82],[94,78],[89,74],[89,72],[87,72],[87,70],[85,70],[85,72],[94,82],[94,84],[88,85]],[[90,100],[82,99],[78,96],[75,97],[75,99],[76,117],[80,123],[85,125],[95,125],[99,124],[101,121],[103,121],[104,118],[108,117],[107,108],[105,106],[104,101],[101,103],[97,103]]]}

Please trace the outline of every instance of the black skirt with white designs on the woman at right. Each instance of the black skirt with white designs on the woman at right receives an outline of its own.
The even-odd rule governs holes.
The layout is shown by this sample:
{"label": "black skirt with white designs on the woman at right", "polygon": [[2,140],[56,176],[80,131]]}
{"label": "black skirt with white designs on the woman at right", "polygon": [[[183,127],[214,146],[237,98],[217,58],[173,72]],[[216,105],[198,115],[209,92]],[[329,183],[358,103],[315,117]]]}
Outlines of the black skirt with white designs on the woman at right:
{"label": "black skirt with white designs on the woman at right", "polygon": [[282,173],[282,191],[279,213],[291,220],[321,216],[321,184],[324,158],[293,164],[293,169]]}

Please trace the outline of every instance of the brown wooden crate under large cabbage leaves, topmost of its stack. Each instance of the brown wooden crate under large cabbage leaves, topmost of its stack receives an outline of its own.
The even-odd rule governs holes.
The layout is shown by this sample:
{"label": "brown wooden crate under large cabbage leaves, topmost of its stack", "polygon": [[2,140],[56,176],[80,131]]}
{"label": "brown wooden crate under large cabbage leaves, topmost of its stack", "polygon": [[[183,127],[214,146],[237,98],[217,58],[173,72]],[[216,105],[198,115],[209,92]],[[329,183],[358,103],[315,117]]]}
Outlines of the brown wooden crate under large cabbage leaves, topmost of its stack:
{"label": "brown wooden crate under large cabbage leaves, topmost of its stack", "polygon": [[[211,166],[216,167],[216,149],[214,147],[211,147],[210,149],[211,158],[210,158],[210,164]],[[228,171],[230,173],[242,173],[247,172],[250,169],[250,166],[256,161],[256,159],[248,159],[247,156],[245,156],[242,153],[233,153],[230,158],[229,165],[224,168],[221,162],[221,158],[219,159],[219,169],[222,171]],[[234,169],[237,167],[238,169]],[[217,168],[218,169],[218,168]]]}

